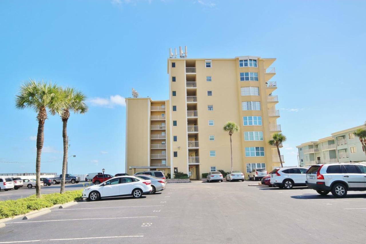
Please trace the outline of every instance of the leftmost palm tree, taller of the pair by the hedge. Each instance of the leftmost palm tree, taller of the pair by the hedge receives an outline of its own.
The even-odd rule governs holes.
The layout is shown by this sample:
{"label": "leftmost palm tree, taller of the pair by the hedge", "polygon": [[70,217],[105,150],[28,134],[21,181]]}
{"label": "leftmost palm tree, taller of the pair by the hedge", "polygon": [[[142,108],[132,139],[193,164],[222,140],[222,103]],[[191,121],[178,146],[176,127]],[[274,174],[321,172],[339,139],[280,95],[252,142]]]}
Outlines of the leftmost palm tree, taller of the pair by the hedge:
{"label": "leftmost palm tree, taller of the pair by the hedge", "polygon": [[20,86],[18,95],[15,96],[17,109],[31,108],[37,113],[37,157],[36,157],[36,196],[41,197],[40,170],[41,153],[44,140],[44,123],[47,119],[47,109],[54,115],[61,112],[64,98],[60,94],[60,88],[56,84],[44,81],[29,80]]}

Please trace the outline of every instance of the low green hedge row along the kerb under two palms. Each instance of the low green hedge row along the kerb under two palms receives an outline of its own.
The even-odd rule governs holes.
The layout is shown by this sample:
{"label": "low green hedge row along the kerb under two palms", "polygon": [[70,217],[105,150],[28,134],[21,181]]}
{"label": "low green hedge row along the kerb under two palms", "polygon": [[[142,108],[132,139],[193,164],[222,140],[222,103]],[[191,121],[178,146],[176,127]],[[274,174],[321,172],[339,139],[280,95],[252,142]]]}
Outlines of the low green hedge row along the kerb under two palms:
{"label": "low green hedge row along the kerb under two palms", "polygon": [[17,200],[7,200],[0,202],[0,219],[13,217],[15,215],[26,214],[33,210],[52,207],[55,204],[63,204],[81,199],[83,190],[67,191],[63,194],[51,193],[36,198],[36,195],[20,198]]}

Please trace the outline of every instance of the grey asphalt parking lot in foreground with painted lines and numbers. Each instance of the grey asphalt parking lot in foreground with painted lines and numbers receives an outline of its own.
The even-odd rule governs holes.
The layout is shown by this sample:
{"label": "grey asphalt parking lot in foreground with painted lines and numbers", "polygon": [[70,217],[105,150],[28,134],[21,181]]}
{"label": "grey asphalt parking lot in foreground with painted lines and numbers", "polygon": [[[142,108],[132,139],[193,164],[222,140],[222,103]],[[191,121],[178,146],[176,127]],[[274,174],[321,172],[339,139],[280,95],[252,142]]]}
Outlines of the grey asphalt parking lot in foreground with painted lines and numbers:
{"label": "grey asphalt parking lot in foreground with painted lines and numbers", "polygon": [[[0,243],[365,243],[366,194],[344,199],[253,182],[168,184],[155,195],[83,200],[0,229]],[[257,183],[257,182],[256,182]]]}

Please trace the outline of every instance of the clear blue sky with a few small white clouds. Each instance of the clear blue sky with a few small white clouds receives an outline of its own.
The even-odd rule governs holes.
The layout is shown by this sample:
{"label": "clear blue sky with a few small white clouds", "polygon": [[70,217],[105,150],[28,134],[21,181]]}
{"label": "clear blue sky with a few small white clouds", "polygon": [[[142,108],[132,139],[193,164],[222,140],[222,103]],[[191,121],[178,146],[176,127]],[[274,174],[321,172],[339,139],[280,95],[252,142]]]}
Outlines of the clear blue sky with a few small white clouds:
{"label": "clear blue sky with a few small white clouds", "polygon": [[[69,171],[124,171],[125,106],[168,98],[168,48],[189,58],[277,58],[281,153],[365,120],[366,1],[0,1],[0,173],[34,172],[36,114],[14,107],[33,78],[82,90],[85,115],[68,122]],[[61,120],[45,123],[42,172],[61,171]],[[46,162],[54,160],[52,162]]]}

